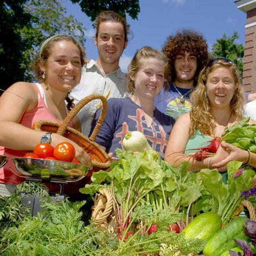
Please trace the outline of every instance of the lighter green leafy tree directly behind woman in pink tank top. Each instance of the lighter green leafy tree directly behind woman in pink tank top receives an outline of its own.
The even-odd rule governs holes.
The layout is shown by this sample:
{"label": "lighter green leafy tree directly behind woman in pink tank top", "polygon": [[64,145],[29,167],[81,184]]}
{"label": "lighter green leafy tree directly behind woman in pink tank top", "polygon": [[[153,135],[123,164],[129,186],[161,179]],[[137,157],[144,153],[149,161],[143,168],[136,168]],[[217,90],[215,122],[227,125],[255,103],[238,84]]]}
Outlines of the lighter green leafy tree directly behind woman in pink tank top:
{"label": "lighter green leafy tree directly behind woman in pink tank top", "polygon": [[21,35],[32,43],[32,47],[25,51],[27,67],[26,81],[33,78],[33,72],[29,63],[33,62],[35,52],[45,37],[54,34],[66,34],[76,37],[82,44],[85,43],[84,28],[81,22],[74,19],[73,15],[66,15],[66,8],[58,0],[29,0],[25,5],[25,11],[33,16],[32,26],[23,28]]}

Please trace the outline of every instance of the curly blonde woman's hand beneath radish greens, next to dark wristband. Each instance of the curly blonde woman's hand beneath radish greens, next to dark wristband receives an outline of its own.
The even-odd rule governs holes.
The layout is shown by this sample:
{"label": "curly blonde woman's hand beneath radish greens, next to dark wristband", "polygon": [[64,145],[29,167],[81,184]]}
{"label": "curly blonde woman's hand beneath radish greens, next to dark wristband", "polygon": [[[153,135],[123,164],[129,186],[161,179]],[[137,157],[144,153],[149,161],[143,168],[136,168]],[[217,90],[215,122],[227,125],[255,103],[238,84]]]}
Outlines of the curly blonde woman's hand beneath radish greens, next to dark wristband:
{"label": "curly blonde woman's hand beneath radish greens, next to dark wristband", "polygon": [[[235,147],[234,145],[230,145],[226,141],[222,141],[220,144],[220,151],[225,151],[226,153],[229,153],[224,159],[222,157],[221,161],[214,161],[214,164],[212,164],[213,168],[218,168],[218,170],[227,169],[227,163],[230,161],[239,161],[245,163],[248,160],[248,152]],[[218,150],[219,150],[218,149]],[[218,151],[217,151],[218,153]]]}

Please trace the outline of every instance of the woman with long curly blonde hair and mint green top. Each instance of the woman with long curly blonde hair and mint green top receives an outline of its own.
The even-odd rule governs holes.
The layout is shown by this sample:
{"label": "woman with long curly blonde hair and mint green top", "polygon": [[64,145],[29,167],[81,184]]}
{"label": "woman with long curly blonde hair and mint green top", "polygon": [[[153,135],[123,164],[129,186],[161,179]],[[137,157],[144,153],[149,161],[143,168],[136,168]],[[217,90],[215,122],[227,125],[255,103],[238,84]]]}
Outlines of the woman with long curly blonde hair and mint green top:
{"label": "woman with long curly blonde hair and mint green top", "polygon": [[[191,93],[190,100],[191,112],[181,115],[173,127],[165,151],[165,161],[174,166],[188,161],[191,171],[211,169],[214,164],[218,165],[228,157],[230,151],[219,147],[217,154],[202,161],[179,156],[181,153],[194,153],[189,149],[201,147],[205,142],[220,136],[226,127],[241,120],[245,98],[235,64],[226,58],[209,62],[199,74],[198,86]],[[246,162],[247,158],[248,154],[242,162]],[[225,171],[225,168],[221,166],[219,171]]]}

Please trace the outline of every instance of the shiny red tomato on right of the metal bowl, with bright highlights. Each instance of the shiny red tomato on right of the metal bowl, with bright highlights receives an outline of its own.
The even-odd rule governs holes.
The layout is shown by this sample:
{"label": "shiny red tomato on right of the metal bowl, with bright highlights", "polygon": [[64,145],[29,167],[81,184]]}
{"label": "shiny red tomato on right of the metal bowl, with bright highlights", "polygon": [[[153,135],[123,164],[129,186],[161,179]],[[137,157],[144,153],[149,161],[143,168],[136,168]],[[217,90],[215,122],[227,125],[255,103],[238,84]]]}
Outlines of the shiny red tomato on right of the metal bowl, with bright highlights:
{"label": "shiny red tomato on right of the metal bowl, with bright highlights", "polygon": [[53,156],[60,161],[71,162],[76,155],[75,147],[69,142],[59,143],[53,151]]}

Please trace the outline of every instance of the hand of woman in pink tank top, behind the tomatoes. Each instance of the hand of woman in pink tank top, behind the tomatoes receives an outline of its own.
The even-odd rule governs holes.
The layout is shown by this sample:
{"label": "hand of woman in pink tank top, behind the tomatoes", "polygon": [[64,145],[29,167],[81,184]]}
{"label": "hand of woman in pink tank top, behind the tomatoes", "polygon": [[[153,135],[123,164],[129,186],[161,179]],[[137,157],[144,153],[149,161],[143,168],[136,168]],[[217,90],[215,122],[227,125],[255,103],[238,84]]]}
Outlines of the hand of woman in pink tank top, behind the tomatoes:
{"label": "hand of woman in pink tank top, behind the tomatoes", "polygon": [[74,141],[71,141],[57,133],[52,133],[52,146],[55,147],[58,143],[61,143],[63,141],[67,141],[69,143],[71,143],[76,150],[76,159],[84,165],[87,165],[90,167],[90,169],[92,169],[92,160],[91,157],[85,152],[85,150],[81,147],[79,147]]}

